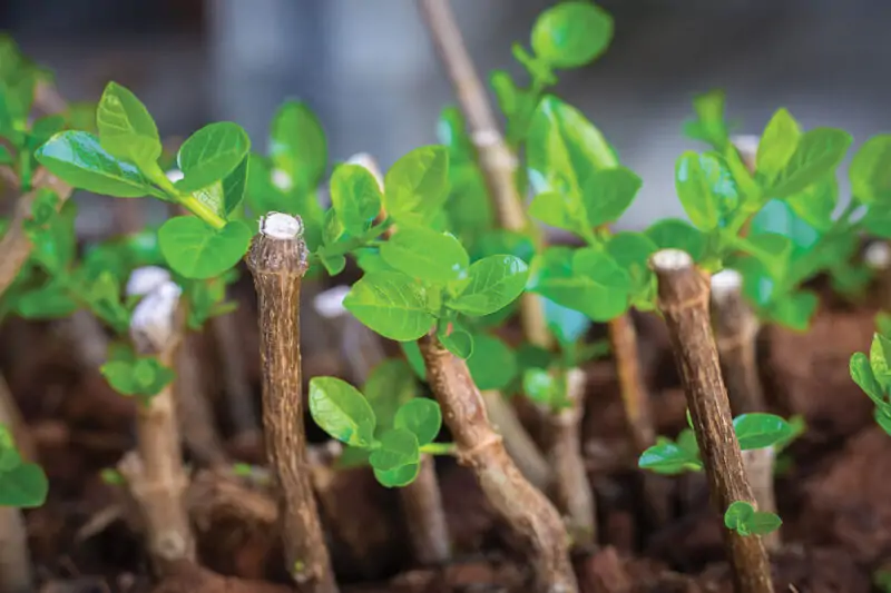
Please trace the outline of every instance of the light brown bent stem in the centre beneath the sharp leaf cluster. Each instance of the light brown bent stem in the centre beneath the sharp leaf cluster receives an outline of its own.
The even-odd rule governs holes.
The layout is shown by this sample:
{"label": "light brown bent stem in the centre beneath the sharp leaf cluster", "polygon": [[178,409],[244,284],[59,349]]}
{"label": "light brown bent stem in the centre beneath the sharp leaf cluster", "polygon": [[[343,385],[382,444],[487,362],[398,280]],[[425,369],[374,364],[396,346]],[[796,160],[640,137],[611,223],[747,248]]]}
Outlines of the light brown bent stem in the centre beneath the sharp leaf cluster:
{"label": "light brown bent stem in the centre beneath the sharp leaf cluster", "polygon": [[458,461],[473,471],[489,503],[531,548],[536,591],[578,591],[560,516],[511,461],[501,436],[489,424],[467,364],[434,335],[421,338],[419,346],[427,378],[454,438]]}

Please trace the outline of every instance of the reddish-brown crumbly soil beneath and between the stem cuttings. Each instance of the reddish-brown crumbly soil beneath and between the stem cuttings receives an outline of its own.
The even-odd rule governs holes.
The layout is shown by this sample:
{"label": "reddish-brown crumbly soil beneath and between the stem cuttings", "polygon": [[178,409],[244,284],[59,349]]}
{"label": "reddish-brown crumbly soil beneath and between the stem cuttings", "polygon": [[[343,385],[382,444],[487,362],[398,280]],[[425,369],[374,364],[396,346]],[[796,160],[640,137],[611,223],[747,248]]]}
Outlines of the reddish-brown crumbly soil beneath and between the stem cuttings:
{"label": "reddish-brown crumbly soil beneath and between the stem cuttings", "polygon": [[[247,374],[258,397],[256,328],[249,284],[236,312]],[[762,370],[772,411],[801,414],[809,429],[785,453],[776,498],[784,548],[774,555],[777,592],[869,593],[891,559],[891,439],[874,425],[848,359],[869,347],[875,309],[828,300],[807,334],[762,332]],[[685,426],[685,402],[664,328],[637,319],[642,358],[659,434]],[[4,324],[0,365],[46,468],[48,503],[26,513],[43,593],[277,593],[290,591],[275,532],[277,511],[262,486],[198,471],[189,493],[203,567],[183,564],[154,582],[138,526],[126,521],[118,488],[99,476],[134,445],[134,403],[79,365],[58,324]],[[205,340],[206,342],[206,340]],[[336,374],[340,357],[304,334],[304,374]],[[320,345],[321,344],[321,345]],[[200,348],[205,388],[237,459],[256,462],[256,441],[232,438],[212,343]],[[584,593],[731,591],[719,516],[699,475],[644,476],[634,470],[616,377],[608,360],[589,365],[584,451],[598,501],[600,546],[579,553]],[[533,426],[532,426],[533,428]],[[312,429],[313,439],[322,435]],[[413,566],[394,491],[366,470],[329,476],[321,505],[339,579],[350,592],[522,592],[528,563],[491,513],[472,475],[449,459],[438,471],[454,541],[453,564]],[[344,517],[349,516],[349,521]],[[364,545],[356,543],[364,542]],[[352,544],[352,545],[351,545]]]}

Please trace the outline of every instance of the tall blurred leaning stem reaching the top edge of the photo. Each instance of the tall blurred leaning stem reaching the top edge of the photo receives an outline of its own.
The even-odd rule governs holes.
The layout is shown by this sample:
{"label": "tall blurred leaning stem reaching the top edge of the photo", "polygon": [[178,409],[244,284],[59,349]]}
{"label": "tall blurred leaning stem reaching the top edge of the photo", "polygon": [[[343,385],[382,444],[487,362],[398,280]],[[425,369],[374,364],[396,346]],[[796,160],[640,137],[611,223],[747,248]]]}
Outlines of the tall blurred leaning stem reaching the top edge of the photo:
{"label": "tall blurred leaning stem reaching the top edge of the photo", "polygon": [[[508,230],[537,229],[526,216],[523,199],[517,190],[517,157],[498,128],[486,88],[480,81],[449,0],[419,0],[421,14],[437,53],[452,83],[458,103],[467,120],[468,131],[477,149],[480,169],[489,189],[498,220]],[[552,339],[545,323],[541,299],[532,294],[520,299],[520,320],[527,339],[544,348]]]}

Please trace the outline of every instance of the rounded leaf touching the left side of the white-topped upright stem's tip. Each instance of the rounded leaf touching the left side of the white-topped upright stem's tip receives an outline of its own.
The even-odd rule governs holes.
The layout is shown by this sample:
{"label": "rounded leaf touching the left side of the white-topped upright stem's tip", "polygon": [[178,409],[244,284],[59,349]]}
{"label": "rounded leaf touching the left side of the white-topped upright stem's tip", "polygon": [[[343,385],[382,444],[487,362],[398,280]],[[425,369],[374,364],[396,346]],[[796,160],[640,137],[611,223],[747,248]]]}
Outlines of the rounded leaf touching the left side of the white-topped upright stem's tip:
{"label": "rounded leaf touching the left side of the white-topped upright stem's tip", "polygon": [[158,229],[160,251],[169,266],[193,279],[218,276],[247,253],[253,234],[241,220],[214,229],[193,216],[168,219]]}

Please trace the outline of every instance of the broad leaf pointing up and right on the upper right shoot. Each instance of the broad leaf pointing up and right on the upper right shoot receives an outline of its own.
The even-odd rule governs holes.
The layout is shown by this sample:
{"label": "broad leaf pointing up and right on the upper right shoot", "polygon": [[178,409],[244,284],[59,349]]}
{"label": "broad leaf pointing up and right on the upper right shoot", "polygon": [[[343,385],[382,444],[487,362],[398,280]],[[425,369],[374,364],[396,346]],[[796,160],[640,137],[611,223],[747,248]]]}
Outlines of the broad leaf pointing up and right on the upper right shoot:
{"label": "broad leaf pointing up and right on the upper right shoot", "polygon": [[785,198],[825,178],[842,161],[851,140],[850,134],[833,128],[804,132],[783,170],[770,180],[762,180],[764,192],[773,198]]}

